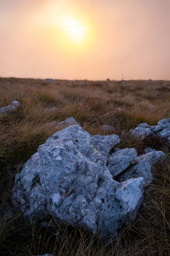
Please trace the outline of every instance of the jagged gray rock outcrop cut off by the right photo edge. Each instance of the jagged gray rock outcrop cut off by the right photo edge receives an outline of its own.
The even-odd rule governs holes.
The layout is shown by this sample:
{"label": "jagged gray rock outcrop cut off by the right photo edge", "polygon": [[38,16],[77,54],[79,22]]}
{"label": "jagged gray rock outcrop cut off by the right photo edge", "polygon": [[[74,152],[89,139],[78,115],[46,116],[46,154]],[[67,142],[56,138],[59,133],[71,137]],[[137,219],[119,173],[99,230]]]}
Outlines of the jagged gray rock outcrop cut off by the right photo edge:
{"label": "jagged gray rock outcrop cut off by the right photo edge", "polygon": [[149,135],[166,138],[170,143],[170,118],[162,119],[155,126],[150,126],[147,123],[142,123],[130,131],[135,137],[145,139]]}

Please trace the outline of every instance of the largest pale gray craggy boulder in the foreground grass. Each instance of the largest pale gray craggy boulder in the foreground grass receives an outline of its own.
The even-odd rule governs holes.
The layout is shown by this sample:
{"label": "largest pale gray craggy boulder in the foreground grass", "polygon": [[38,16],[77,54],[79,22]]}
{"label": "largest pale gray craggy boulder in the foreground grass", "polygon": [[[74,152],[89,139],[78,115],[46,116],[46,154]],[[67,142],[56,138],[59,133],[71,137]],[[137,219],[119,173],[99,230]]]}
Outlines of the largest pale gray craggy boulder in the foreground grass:
{"label": "largest pale gray craggy boulder in the foreground grass", "polygon": [[91,136],[78,125],[58,131],[40,145],[15,177],[14,205],[26,215],[47,214],[101,237],[136,218],[143,178],[113,180],[106,163],[117,135]]}

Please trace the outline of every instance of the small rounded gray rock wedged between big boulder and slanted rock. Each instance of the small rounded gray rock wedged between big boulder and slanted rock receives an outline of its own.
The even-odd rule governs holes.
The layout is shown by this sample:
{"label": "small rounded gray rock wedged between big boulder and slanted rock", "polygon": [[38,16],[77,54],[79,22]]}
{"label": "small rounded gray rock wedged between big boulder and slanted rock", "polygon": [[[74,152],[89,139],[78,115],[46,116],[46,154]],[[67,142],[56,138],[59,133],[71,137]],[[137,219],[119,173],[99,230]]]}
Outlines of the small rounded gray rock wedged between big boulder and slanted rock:
{"label": "small rounded gray rock wedged between big boulder and slanted rock", "polygon": [[111,175],[114,177],[125,171],[136,157],[137,151],[135,148],[125,148],[111,154],[108,158],[108,169]]}

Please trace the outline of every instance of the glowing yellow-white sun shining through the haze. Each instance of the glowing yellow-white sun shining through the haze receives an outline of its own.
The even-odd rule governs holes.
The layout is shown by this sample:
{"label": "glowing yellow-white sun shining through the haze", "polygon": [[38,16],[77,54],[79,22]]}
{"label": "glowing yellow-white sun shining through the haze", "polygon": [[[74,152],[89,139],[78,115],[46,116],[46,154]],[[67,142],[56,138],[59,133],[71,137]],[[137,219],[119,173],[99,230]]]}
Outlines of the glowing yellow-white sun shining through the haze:
{"label": "glowing yellow-white sun shining through the haze", "polygon": [[73,17],[62,17],[61,27],[69,41],[81,44],[87,36],[87,27]]}

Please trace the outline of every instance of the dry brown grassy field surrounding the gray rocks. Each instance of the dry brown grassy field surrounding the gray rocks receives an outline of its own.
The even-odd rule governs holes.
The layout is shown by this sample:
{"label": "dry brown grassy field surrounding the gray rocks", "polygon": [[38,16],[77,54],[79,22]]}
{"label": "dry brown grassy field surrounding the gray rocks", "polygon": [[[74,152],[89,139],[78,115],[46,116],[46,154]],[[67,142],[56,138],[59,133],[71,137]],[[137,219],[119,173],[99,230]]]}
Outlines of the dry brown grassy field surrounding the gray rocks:
{"label": "dry brown grassy field surrounding the gray rocks", "polygon": [[[139,123],[156,125],[170,118],[170,81],[63,81],[0,78],[0,107],[13,100],[20,108],[0,115],[0,255],[34,256],[167,256],[170,255],[170,148],[152,137],[142,141],[127,135]],[[56,107],[57,111],[51,111]],[[163,150],[167,163],[153,168],[154,181],[144,193],[146,207],[135,223],[122,228],[115,241],[101,241],[61,222],[48,227],[31,222],[11,203],[14,176],[40,144],[59,130],[51,125],[74,117],[90,134],[110,134],[116,128],[120,148],[138,154],[151,146]]]}

